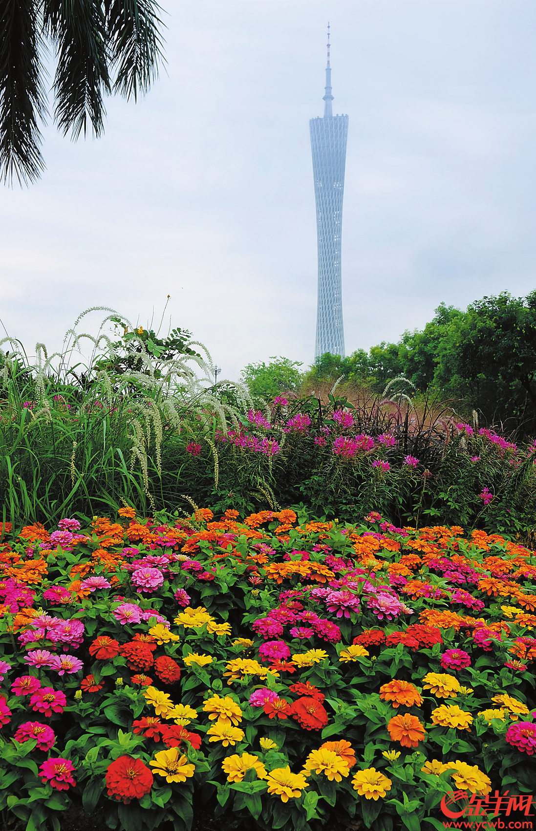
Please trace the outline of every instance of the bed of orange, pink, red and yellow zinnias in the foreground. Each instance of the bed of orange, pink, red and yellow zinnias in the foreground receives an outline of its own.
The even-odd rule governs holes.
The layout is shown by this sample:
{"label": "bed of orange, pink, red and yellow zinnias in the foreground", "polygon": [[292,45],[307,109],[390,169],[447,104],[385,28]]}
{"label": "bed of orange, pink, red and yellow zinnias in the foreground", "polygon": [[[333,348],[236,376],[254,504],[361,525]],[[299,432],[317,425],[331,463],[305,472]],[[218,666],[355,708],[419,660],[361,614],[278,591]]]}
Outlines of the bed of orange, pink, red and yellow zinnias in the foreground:
{"label": "bed of orange, pink, red and yellow zinnias in the foreground", "polygon": [[125,831],[419,831],[453,791],[531,792],[527,548],[379,514],[118,514],[2,528],[0,807],[22,828],[74,802]]}

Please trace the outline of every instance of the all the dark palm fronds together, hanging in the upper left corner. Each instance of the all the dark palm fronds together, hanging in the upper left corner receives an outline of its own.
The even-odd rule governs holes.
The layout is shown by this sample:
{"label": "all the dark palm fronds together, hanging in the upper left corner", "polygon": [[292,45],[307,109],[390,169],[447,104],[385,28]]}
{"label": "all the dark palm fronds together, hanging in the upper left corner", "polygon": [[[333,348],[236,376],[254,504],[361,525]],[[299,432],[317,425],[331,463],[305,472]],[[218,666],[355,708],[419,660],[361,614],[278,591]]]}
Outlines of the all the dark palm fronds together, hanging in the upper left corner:
{"label": "all the dark palm fronds together, hanging in the upper left corner", "polygon": [[154,0],[0,2],[0,176],[35,181],[44,169],[47,46],[57,59],[54,120],[74,139],[104,130],[104,96],[127,100],[155,80],[162,56]]}

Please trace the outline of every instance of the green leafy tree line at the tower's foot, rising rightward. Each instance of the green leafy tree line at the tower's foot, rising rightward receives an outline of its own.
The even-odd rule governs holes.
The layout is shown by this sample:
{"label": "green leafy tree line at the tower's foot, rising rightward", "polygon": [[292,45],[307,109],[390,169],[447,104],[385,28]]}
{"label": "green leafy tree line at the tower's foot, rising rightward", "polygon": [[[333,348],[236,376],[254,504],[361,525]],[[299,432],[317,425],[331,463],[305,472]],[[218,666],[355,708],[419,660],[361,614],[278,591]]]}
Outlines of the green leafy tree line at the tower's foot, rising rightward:
{"label": "green leafy tree line at the tower's foot, rising rightward", "polygon": [[483,297],[465,312],[442,302],[422,331],[344,358],[327,352],[305,373],[297,361],[271,361],[243,371],[255,395],[269,399],[338,378],[381,394],[392,378],[405,376],[417,396],[454,399],[460,413],[476,410],[485,423],[536,433],[536,291]]}

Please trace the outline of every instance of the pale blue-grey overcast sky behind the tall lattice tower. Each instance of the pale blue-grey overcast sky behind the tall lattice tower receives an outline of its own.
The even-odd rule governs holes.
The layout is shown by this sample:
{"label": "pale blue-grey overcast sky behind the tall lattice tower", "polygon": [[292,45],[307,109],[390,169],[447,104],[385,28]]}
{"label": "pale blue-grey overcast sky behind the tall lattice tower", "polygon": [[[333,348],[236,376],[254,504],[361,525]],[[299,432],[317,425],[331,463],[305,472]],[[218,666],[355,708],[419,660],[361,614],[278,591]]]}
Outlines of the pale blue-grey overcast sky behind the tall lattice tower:
{"label": "pale blue-grey overcast sky behind the tall lattice tower", "polygon": [[48,126],[42,179],[0,193],[0,317],[29,352],[87,307],[145,325],[170,294],[222,378],[312,362],[328,20],[347,354],[441,301],[535,288],[534,0],[161,2],[168,62],[145,99],[108,99],[100,140]]}

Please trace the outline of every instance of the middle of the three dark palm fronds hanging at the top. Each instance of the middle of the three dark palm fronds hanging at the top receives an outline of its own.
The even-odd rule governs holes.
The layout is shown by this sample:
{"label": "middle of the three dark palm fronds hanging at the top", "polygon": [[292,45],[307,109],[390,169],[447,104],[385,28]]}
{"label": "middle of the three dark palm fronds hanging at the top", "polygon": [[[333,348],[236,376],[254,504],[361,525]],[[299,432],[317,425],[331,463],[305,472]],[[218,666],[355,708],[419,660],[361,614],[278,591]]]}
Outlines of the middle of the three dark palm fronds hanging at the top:
{"label": "middle of the three dark palm fronds hanging at the top", "polygon": [[45,0],[45,32],[57,51],[55,119],[63,135],[86,135],[88,121],[101,135],[110,93],[106,54],[106,19],[101,0]]}

